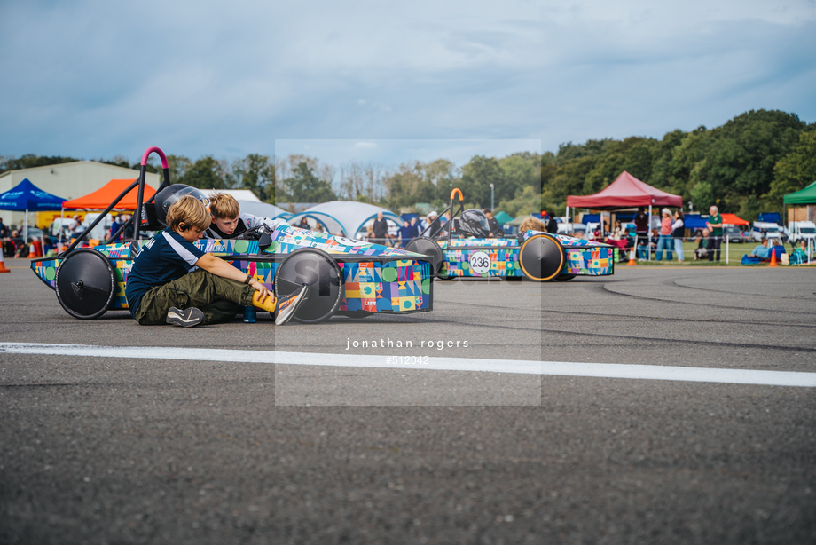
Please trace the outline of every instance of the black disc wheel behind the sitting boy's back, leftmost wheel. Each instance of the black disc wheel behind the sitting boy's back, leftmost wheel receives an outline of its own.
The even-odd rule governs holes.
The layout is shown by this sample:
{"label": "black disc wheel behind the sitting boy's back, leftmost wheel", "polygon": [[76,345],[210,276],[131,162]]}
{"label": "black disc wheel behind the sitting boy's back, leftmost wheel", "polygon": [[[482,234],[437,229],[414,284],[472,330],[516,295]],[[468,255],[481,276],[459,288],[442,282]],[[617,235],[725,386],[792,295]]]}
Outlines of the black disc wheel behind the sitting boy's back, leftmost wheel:
{"label": "black disc wheel behind the sitting boy's back, leftmost wheel", "polygon": [[116,275],[107,257],[95,249],[72,251],[57,268],[57,300],[80,320],[98,318],[114,300]]}

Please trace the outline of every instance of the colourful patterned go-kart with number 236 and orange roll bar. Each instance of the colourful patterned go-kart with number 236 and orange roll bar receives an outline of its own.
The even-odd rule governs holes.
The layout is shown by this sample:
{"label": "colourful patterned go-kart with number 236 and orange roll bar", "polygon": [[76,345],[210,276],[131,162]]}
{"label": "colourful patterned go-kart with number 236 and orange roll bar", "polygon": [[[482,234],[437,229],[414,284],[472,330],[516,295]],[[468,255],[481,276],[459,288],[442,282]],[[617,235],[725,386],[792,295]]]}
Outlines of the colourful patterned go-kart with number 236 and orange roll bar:
{"label": "colourful patterned go-kart with number 236 and orange roll bar", "polygon": [[[454,196],[459,207],[454,211]],[[481,210],[465,210],[462,192],[451,191],[447,226],[437,217],[405,249],[430,257],[443,280],[457,277],[504,277],[544,282],[572,280],[577,275],[614,273],[614,248],[562,234],[527,231],[519,238],[487,238],[490,227]],[[451,224],[453,228],[451,228]]]}

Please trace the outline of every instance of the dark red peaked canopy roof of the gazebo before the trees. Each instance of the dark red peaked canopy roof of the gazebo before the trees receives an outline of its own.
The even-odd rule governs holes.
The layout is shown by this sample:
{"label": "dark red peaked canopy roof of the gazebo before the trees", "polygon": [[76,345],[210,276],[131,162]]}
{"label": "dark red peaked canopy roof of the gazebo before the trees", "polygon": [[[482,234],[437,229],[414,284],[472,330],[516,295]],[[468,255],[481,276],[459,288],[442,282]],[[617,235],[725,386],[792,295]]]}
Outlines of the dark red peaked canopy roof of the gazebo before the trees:
{"label": "dark red peaked canopy roof of the gazebo before the trees", "polygon": [[569,195],[568,208],[611,210],[638,206],[683,206],[683,197],[649,186],[627,171],[593,195]]}

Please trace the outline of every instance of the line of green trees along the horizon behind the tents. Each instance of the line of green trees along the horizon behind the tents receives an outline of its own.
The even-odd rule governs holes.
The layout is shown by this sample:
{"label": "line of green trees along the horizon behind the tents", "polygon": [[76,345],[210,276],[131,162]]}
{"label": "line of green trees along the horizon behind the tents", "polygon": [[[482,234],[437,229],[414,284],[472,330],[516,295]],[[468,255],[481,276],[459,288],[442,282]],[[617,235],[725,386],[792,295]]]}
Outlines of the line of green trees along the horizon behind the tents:
{"label": "line of green trees along the horizon behind the tents", "polygon": [[[77,161],[71,157],[0,158],[5,170]],[[99,160],[138,169],[127,158]],[[663,138],[604,138],[561,144],[544,154],[520,152],[496,158],[475,155],[457,167],[447,159],[327,165],[306,155],[277,161],[248,154],[234,161],[205,155],[192,161],[168,155],[174,183],[207,189],[249,189],[262,201],[365,201],[412,210],[417,203],[442,209],[459,187],[466,205],[511,216],[547,209],[563,214],[567,195],[593,194],[624,170],[651,186],[682,195],[695,210],[719,209],[749,221],[759,212],[781,210],[782,196],[816,180],[816,123],[776,110],[749,111],[714,129],[672,130]],[[155,164],[148,170],[159,171]]]}

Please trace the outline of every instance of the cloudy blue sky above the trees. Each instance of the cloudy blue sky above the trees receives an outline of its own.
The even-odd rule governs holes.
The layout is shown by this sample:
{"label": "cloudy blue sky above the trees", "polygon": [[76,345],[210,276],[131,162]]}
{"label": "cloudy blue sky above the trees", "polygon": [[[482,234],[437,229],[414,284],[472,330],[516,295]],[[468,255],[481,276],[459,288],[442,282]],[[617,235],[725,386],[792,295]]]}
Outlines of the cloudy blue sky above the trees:
{"label": "cloudy blue sky above the trees", "polygon": [[757,108],[814,122],[813,51],[813,0],[2,2],[0,154],[309,140],[323,162],[461,166]]}

